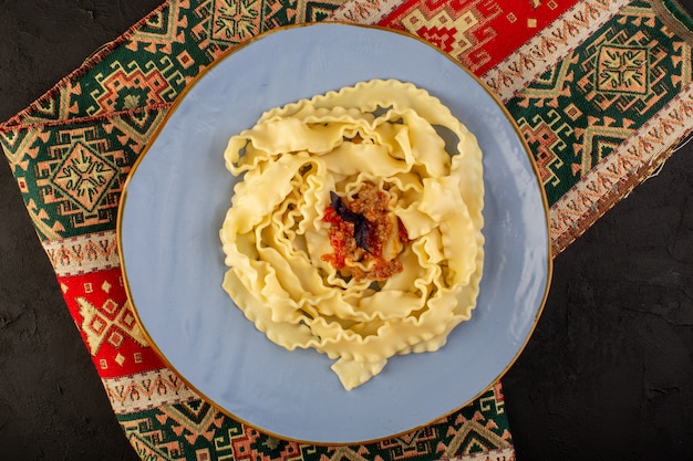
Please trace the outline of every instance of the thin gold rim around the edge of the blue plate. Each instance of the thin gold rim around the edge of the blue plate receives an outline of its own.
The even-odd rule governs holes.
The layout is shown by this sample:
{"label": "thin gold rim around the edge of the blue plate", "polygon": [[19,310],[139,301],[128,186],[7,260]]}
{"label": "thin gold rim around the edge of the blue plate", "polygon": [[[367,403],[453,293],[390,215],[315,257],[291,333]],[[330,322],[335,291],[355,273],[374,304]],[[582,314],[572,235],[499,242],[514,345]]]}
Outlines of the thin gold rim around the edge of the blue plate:
{"label": "thin gold rim around the edge of the blue plate", "polygon": [[[176,96],[175,101],[173,102],[172,106],[169,107],[168,112],[166,113],[166,115],[164,116],[164,119],[162,121],[162,123],[158,125],[158,127],[156,128],[156,130],[154,132],[154,134],[152,135],[152,137],[148,139],[148,142],[146,143],[144,149],[142,150],[142,153],[139,154],[139,156],[137,157],[137,159],[135,160],[135,164],[133,165],[133,167],[131,168],[130,172],[127,174],[127,178],[125,179],[125,185],[123,186],[123,191],[121,193],[121,199],[118,202],[118,210],[117,210],[117,221],[116,221],[116,240],[117,240],[117,245],[118,248],[122,248],[122,220],[123,220],[123,208],[125,206],[125,201],[127,200],[127,186],[130,185],[131,179],[133,178],[133,176],[135,175],[135,172],[137,171],[137,167],[139,166],[142,159],[145,157],[145,155],[147,154],[147,151],[149,150],[149,148],[152,147],[152,145],[155,143],[156,138],[158,137],[158,135],[161,134],[161,132],[164,129],[164,127],[166,126],[168,118],[172,116],[172,114],[176,111],[177,106],[179,105],[180,101],[183,98],[185,98],[185,95],[190,91],[190,88],[193,88],[214,66],[216,66],[218,63],[220,63],[221,61],[224,61],[225,59],[227,59],[228,56],[230,56],[231,54],[234,54],[235,52],[251,45],[252,43],[255,43],[256,41],[273,34],[273,33],[278,33],[281,31],[286,31],[286,30],[290,30],[290,29],[298,29],[298,28],[307,28],[307,27],[311,27],[314,24],[339,24],[339,25],[349,25],[349,27],[355,27],[355,28],[363,28],[363,29],[375,29],[375,30],[380,30],[380,31],[384,31],[384,32],[390,32],[390,33],[395,33],[395,34],[400,34],[403,36],[407,36],[410,39],[414,39],[421,43],[424,43],[425,45],[430,46],[432,50],[434,50],[435,52],[442,54],[443,56],[447,57],[448,60],[451,60],[453,63],[455,63],[463,72],[467,73],[493,99],[494,102],[498,105],[498,107],[500,107],[500,109],[503,111],[504,115],[506,116],[506,118],[508,119],[508,122],[510,123],[510,125],[513,126],[513,129],[515,130],[515,133],[517,134],[518,138],[521,142],[521,145],[524,147],[525,154],[527,155],[527,159],[531,166],[531,169],[535,174],[535,179],[537,180],[537,186],[539,188],[540,191],[540,196],[541,196],[541,202],[542,202],[542,207],[544,207],[544,213],[545,213],[545,219],[547,222],[547,274],[546,274],[546,286],[544,289],[544,295],[541,297],[541,303],[539,304],[539,307],[537,310],[537,313],[535,315],[535,318],[532,321],[531,327],[529,328],[529,333],[527,334],[527,337],[525,338],[525,340],[523,342],[521,346],[519,347],[519,349],[517,350],[517,353],[515,354],[515,356],[513,357],[513,360],[510,360],[510,363],[500,371],[500,374],[492,381],[489,383],[489,386],[493,386],[495,383],[499,381],[500,378],[510,369],[510,367],[513,367],[513,365],[515,365],[515,362],[518,359],[518,357],[521,355],[523,350],[525,349],[525,347],[527,346],[527,343],[529,342],[529,338],[532,336],[535,328],[537,327],[537,323],[539,322],[539,318],[541,317],[541,313],[544,312],[544,306],[546,305],[546,301],[548,297],[548,293],[549,293],[549,287],[551,285],[551,277],[552,277],[552,272],[554,272],[554,259],[551,256],[551,242],[550,242],[550,228],[548,224],[549,221],[549,206],[548,206],[548,199],[546,196],[546,190],[544,189],[544,187],[541,186],[541,182],[539,181],[539,172],[537,169],[537,166],[535,164],[535,161],[531,158],[531,151],[529,149],[529,146],[527,144],[527,142],[525,140],[524,136],[521,135],[519,127],[517,126],[517,123],[515,122],[515,119],[513,118],[513,116],[510,115],[510,113],[508,112],[508,109],[505,107],[505,105],[500,102],[500,99],[498,99],[498,97],[488,88],[488,86],[482,81],[479,80],[475,74],[473,74],[472,72],[469,72],[465,66],[463,66],[459,62],[457,62],[455,59],[453,59],[449,54],[441,51],[439,49],[435,48],[435,45],[433,45],[432,43],[425,41],[424,39],[411,34],[408,32],[404,32],[404,31],[400,31],[400,30],[393,30],[393,29],[387,29],[381,25],[373,25],[373,24],[356,24],[356,23],[350,23],[350,22],[342,22],[342,21],[330,21],[330,22],[321,22],[321,23],[301,23],[301,24],[292,24],[292,25],[283,25],[283,27],[279,27],[279,28],[275,28],[268,31],[265,31],[251,39],[249,39],[248,41],[234,46],[229,50],[227,50],[226,52],[224,52],[219,57],[217,57],[213,63],[210,63],[206,69],[204,69],[199,74],[197,74],[180,92],[180,94],[178,94],[178,96]],[[221,161],[221,160],[220,160]],[[432,423],[434,423],[435,421],[437,421],[438,419],[442,418],[447,418],[449,415],[461,410],[462,408],[466,407],[468,404],[470,404],[472,401],[476,400],[478,397],[480,397],[484,392],[486,392],[489,387],[484,388],[483,390],[480,390],[478,394],[476,394],[474,397],[472,397],[470,399],[468,399],[464,405],[453,408],[451,409],[448,412],[441,415],[439,417],[431,420],[431,421],[426,421],[420,426],[413,427],[411,429],[401,431],[401,432],[396,432],[396,433],[392,433],[390,436],[385,436],[385,437],[379,437],[375,439],[369,439],[369,440],[362,440],[362,441],[353,441],[353,442],[318,442],[318,441],[313,441],[313,440],[299,440],[299,439],[292,439],[292,438],[288,438],[287,436],[282,436],[282,434],[278,434],[275,433],[270,430],[260,428],[258,426],[255,426],[254,423],[244,420],[242,418],[239,418],[238,416],[234,415],[232,412],[228,411],[227,409],[225,409],[223,406],[216,404],[213,399],[210,399],[209,397],[207,397],[204,392],[201,392],[195,385],[193,385],[187,378],[185,378],[182,374],[178,373],[178,370],[176,369],[176,367],[168,360],[168,358],[166,357],[166,355],[158,348],[158,346],[156,345],[156,343],[152,339],[152,336],[149,335],[149,333],[147,332],[144,323],[142,322],[139,314],[137,312],[137,307],[135,305],[134,300],[132,298],[132,294],[130,292],[130,284],[127,282],[127,271],[126,271],[126,265],[125,265],[125,260],[123,258],[123,252],[118,251],[118,260],[121,263],[121,271],[123,273],[123,284],[125,287],[125,293],[127,295],[127,298],[130,300],[132,310],[133,310],[133,314],[137,321],[137,324],[139,325],[139,328],[142,329],[142,333],[144,335],[144,337],[146,338],[147,343],[149,344],[149,347],[152,347],[156,354],[159,356],[159,358],[164,362],[164,364],[170,368],[174,373],[176,373],[176,375],[178,375],[178,377],[180,377],[180,379],[183,379],[183,381],[186,384],[186,386],[188,388],[190,388],[190,390],[193,390],[194,392],[196,392],[201,399],[206,400],[207,402],[211,404],[215,408],[217,408],[220,412],[223,412],[224,415],[226,415],[227,417],[245,425],[248,426],[250,428],[254,428],[260,432],[263,432],[268,436],[281,439],[281,440],[287,440],[290,442],[298,442],[298,443],[308,443],[308,444],[313,444],[313,446],[319,446],[319,447],[329,447],[329,446],[348,446],[348,444],[369,444],[369,443],[375,443],[382,440],[387,440],[391,438],[396,438],[400,436],[403,436],[405,433],[412,432],[412,431],[416,431],[421,428],[424,428],[426,426],[430,426]],[[279,346],[278,346],[279,347]]]}

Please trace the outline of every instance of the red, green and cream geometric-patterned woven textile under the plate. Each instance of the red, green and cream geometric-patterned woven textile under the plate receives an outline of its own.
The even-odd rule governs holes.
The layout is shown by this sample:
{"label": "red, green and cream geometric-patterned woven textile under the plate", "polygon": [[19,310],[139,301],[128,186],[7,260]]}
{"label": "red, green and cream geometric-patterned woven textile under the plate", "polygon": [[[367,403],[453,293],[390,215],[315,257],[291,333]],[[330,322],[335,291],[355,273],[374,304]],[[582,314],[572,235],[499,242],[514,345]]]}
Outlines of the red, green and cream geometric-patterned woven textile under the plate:
{"label": "red, green and cream geometric-patterned woven textile under the plate", "polygon": [[479,76],[532,150],[554,254],[693,129],[693,22],[672,0],[172,0],[0,125],[68,308],[143,460],[515,459],[500,384],[401,437],[290,442],[204,401],[135,321],[115,233],[132,165],[180,91],[226,50],[311,21],[407,31]]}

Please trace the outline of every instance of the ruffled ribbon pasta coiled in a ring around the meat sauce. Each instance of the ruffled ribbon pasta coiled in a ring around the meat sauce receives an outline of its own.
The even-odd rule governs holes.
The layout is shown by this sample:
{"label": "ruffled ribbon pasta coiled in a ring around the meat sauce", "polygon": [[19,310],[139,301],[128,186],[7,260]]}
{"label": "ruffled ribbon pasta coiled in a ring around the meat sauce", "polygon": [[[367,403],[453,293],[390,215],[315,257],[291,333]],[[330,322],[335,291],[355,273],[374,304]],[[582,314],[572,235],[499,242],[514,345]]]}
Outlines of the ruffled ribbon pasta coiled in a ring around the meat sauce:
{"label": "ruffled ribbon pasta coiled in a ring around the meat sauce", "polygon": [[[223,286],[276,344],[337,359],[351,389],[395,354],[438,349],[470,317],[484,263],[482,151],[427,92],[374,80],[288,104],[231,137],[224,156],[245,176],[220,231]],[[403,271],[382,286],[321,258],[333,251],[330,191],[349,197],[364,181],[390,195],[411,240]]]}

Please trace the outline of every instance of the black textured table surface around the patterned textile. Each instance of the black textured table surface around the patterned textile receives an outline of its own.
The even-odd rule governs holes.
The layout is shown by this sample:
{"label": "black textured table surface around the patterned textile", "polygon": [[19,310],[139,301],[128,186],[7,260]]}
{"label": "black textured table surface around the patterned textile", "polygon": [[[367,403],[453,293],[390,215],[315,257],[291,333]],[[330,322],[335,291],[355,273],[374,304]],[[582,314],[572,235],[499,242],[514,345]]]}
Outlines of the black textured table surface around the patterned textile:
{"label": "black textured table surface around the patterned textile", "polygon": [[[0,119],[158,3],[0,0]],[[0,459],[138,460],[0,163]],[[556,258],[503,384],[520,461],[693,459],[693,143]]]}

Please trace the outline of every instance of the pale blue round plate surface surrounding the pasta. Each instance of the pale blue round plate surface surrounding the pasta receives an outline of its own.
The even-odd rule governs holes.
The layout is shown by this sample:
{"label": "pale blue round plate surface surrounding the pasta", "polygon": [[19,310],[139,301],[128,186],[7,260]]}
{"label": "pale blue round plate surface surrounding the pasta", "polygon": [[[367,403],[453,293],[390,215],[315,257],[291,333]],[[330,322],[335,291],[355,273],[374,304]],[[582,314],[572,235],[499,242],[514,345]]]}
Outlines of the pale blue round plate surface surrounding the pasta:
{"label": "pale blue round plate surface surrounding the pasta", "polygon": [[[345,391],[314,350],[270,343],[221,289],[219,229],[235,178],[228,138],[262,112],[371,78],[437,96],[484,151],[486,260],[478,304],[438,352],[397,356]],[[196,391],[285,439],[346,443],[426,425],[469,402],[514,363],[544,306],[548,208],[527,147],[503,106],[432,45],[372,27],[320,23],[260,35],[176,101],[131,172],[118,238],[145,335]]]}

